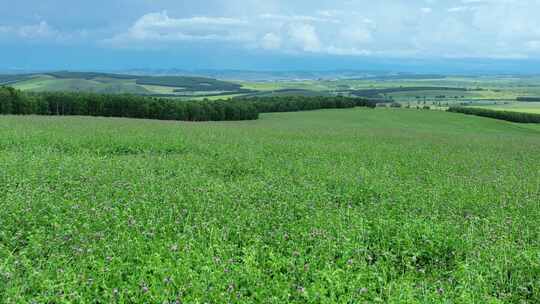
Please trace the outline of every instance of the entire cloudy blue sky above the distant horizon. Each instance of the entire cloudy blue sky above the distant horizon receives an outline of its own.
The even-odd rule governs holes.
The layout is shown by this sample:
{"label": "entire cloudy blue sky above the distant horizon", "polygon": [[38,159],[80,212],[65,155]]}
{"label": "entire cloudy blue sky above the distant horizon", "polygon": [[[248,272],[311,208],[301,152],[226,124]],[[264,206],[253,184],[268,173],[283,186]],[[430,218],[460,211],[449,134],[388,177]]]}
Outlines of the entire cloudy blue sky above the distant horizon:
{"label": "entire cloudy blue sky above the distant horizon", "polygon": [[540,71],[540,0],[0,0],[0,69]]}

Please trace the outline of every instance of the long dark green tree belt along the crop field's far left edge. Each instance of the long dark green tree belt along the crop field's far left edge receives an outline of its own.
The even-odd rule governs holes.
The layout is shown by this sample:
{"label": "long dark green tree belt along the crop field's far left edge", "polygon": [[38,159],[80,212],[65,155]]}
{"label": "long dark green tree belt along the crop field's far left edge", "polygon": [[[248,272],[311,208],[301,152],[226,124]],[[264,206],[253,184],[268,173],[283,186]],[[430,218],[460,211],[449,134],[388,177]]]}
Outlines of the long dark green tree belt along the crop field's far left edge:
{"label": "long dark green tree belt along the crop field's far left edge", "polygon": [[180,101],[127,94],[27,93],[0,87],[0,114],[82,115],[184,121],[254,120],[259,113],[375,107],[361,98],[267,97]]}

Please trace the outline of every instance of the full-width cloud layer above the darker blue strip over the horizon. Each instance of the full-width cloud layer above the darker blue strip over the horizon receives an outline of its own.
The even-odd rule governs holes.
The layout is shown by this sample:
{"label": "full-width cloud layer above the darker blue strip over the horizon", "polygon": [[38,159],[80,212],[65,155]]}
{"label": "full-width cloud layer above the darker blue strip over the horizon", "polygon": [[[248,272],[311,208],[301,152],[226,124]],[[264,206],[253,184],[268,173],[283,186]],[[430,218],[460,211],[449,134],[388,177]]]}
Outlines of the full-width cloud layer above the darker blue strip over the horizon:
{"label": "full-width cloud layer above the darker blue strip over the horizon", "polygon": [[[67,8],[77,7],[67,0],[57,2],[64,1]],[[23,8],[33,9],[33,1],[22,2],[28,4]],[[130,4],[104,2],[109,8],[125,5],[121,15],[127,17],[111,9],[104,20],[98,17],[99,10],[89,11],[86,24],[35,12],[39,20],[0,23],[0,40],[70,41],[138,50],[226,47],[268,54],[540,58],[540,0],[134,0]]]}

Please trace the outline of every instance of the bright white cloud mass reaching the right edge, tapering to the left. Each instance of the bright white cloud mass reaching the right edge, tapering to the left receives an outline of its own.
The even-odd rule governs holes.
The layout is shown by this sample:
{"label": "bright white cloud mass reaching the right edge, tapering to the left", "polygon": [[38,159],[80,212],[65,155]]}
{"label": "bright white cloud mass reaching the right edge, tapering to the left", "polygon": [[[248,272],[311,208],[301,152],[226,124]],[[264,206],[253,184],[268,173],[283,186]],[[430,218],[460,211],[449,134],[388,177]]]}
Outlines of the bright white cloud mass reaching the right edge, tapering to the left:
{"label": "bright white cloud mass reaching the right edge, tapering to the left", "polygon": [[[259,8],[251,13],[247,8],[217,16],[149,13],[105,42],[115,47],[212,42],[354,56],[538,56],[540,2],[536,0],[381,0],[369,5],[367,0],[324,5],[322,1],[268,1],[266,11]],[[242,6],[233,7],[240,12]]]}

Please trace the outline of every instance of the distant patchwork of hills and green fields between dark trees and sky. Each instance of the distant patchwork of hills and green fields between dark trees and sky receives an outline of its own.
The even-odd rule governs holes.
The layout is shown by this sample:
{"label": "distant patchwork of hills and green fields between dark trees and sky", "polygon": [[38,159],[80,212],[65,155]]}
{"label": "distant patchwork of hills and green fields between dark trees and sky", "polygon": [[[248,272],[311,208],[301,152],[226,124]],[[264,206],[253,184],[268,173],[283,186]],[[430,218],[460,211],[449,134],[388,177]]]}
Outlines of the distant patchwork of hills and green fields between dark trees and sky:
{"label": "distant patchwork of hills and green fields between dark trees and sky", "polygon": [[538,76],[402,75],[334,80],[233,81],[81,72],[0,75],[0,84],[33,92],[129,93],[181,99],[344,95],[422,105],[424,102],[437,105],[511,102],[518,97],[540,96],[539,81]]}

